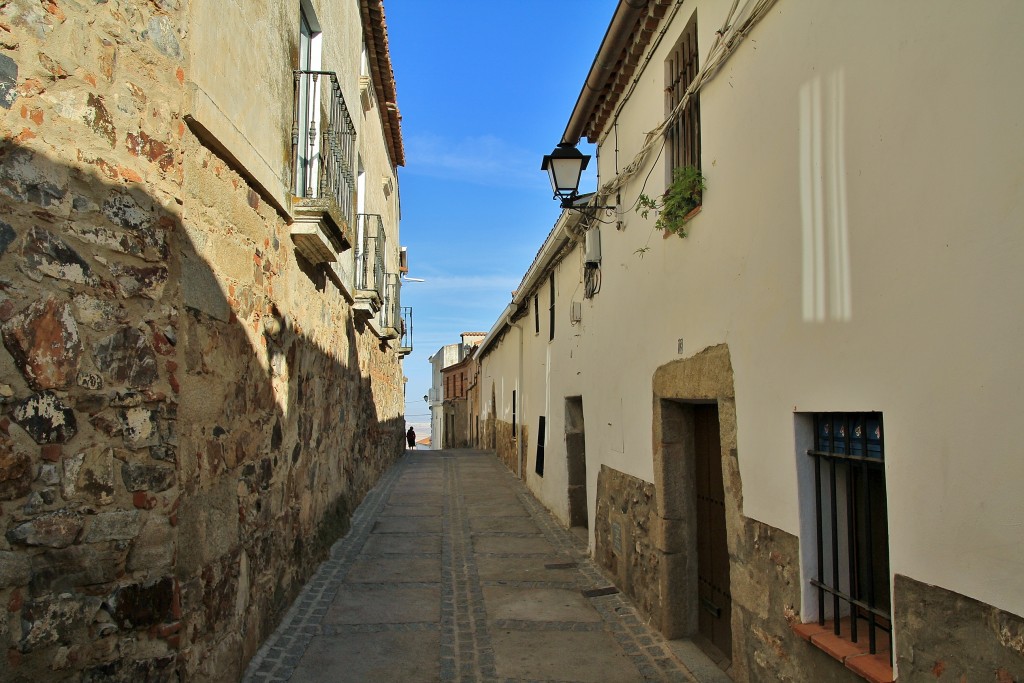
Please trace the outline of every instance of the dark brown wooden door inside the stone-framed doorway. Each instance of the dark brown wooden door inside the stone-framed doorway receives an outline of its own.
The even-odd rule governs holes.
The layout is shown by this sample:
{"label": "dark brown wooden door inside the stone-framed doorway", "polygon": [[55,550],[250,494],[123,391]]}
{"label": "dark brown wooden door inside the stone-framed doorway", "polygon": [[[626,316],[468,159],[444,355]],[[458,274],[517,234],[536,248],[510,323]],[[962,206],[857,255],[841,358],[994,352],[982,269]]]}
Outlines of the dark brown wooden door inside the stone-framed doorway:
{"label": "dark brown wooden door inside the stone-framed doorway", "polygon": [[732,596],[718,407],[694,407],[697,498],[697,632],[732,658]]}

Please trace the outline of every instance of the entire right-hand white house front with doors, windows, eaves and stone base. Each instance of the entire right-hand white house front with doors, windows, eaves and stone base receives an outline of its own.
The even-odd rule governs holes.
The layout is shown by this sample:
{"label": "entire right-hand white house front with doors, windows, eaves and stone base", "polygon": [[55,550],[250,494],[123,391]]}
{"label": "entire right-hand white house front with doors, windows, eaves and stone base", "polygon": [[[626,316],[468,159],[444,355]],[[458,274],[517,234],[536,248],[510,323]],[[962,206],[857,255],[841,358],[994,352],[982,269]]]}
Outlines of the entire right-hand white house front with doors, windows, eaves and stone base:
{"label": "entire right-hand white house front with doors, windows, eaves and stone base", "polygon": [[617,208],[481,344],[484,432],[736,680],[1020,679],[1024,8],[732,4],[616,10],[564,141]]}

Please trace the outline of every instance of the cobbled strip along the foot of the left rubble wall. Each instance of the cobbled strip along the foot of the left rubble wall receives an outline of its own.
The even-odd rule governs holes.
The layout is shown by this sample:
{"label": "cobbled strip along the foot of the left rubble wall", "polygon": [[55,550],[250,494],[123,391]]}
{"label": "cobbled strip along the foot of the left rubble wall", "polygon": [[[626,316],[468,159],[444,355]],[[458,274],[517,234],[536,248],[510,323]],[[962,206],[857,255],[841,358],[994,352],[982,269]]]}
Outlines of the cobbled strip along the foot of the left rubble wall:
{"label": "cobbled strip along the foot of the left rubble wall", "polygon": [[321,622],[352,561],[366,545],[374,521],[408,462],[408,459],[399,459],[362,499],[362,503],[352,514],[348,533],[331,547],[331,556],[319,565],[276,630],[256,651],[242,679],[245,683],[284,682],[292,678],[309,642],[314,636],[324,633]]}

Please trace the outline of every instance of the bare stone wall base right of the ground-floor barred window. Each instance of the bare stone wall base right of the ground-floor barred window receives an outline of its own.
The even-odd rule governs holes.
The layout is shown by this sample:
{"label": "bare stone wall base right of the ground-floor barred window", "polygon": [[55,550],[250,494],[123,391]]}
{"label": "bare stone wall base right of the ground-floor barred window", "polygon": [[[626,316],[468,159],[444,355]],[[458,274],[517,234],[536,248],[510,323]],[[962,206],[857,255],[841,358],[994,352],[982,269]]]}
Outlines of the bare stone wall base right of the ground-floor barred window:
{"label": "bare stone wall base right of the ground-floor barred window", "polygon": [[1024,681],[1024,618],[896,574],[896,663],[901,681]]}

